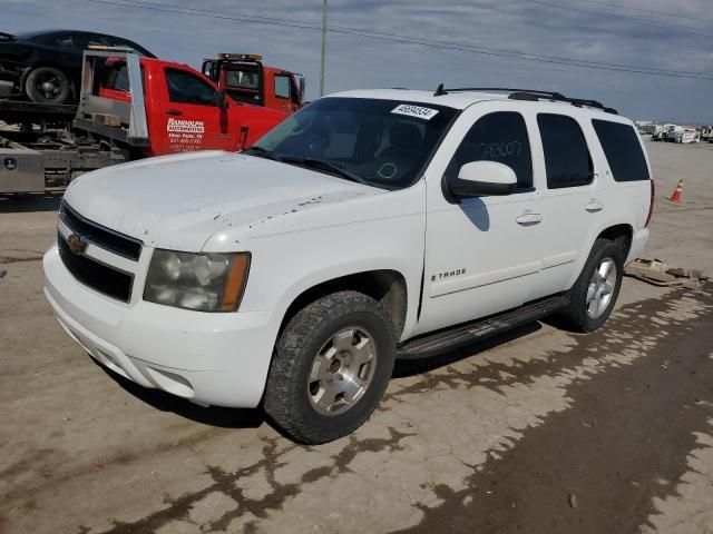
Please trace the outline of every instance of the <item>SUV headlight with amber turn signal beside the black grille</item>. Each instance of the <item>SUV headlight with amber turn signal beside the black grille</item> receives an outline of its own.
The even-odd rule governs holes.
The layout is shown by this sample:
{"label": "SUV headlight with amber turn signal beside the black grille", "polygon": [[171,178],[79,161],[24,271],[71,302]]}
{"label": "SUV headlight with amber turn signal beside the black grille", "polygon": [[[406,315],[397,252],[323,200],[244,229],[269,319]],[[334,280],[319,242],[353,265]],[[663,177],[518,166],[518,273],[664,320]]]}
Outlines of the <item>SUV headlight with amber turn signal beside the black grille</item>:
{"label": "SUV headlight with amber turn signal beside the black grille", "polygon": [[144,300],[201,312],[235,312],[248,270],[250,253],[192,254],[157,248]]}

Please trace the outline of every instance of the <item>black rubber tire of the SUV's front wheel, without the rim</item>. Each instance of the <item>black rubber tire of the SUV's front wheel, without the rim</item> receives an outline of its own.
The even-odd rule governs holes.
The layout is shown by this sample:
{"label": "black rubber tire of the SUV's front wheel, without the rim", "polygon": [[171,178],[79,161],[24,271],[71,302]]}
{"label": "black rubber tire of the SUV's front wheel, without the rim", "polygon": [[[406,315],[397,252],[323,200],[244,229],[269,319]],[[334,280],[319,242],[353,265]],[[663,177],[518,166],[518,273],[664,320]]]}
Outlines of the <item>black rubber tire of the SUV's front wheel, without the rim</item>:
{"label": "black rubber tire of the SUV's front wheel, without the rim", "polygon": [[[370,382],[354,403],[334,415],[318,411],[310,390],[320,350],[341,329],[364,328],[375,348]],[[339,291],[315,300],[287,323],[280,335],[265,388],[264,409],[293,439],[315,445],[360,427],[378,406],[393,370],[395,335],[378,303],[356,291]],[[365,365],[365,364],[363,364]]]}

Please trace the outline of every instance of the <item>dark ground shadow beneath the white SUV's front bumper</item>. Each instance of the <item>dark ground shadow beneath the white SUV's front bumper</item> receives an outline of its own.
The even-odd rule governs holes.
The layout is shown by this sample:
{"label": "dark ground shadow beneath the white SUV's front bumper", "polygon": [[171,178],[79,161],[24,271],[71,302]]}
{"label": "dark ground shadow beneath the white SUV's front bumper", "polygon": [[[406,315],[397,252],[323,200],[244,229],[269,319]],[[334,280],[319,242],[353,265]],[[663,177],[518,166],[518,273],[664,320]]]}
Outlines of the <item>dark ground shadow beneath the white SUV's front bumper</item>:
{"label": "dark ground shadow beneath the white SUV's front bumper", "polygon": [[265,423],[265,417],[261,409],[225,408],[221,406],[203,407],[160,389],[139,386],[104,367],[95,362],[94,358],[90,359],[127,393],[162,412],[172,412],[180,417],[218,428],[257,428]]}

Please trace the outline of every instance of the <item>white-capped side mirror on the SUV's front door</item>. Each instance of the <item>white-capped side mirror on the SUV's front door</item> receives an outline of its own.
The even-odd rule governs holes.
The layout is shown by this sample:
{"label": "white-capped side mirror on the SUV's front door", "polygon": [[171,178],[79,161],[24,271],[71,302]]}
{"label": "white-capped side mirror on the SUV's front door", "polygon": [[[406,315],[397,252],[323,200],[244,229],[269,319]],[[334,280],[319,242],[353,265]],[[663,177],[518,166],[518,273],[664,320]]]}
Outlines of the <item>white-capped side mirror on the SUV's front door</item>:
{"label": "white-capped side mirror on the SUV's front door", "polygon": [[516,187],[515,171],[497,161],[470,161],[460,168],[458,178],[448,180],[450,192],[461,198],[510,195]]}

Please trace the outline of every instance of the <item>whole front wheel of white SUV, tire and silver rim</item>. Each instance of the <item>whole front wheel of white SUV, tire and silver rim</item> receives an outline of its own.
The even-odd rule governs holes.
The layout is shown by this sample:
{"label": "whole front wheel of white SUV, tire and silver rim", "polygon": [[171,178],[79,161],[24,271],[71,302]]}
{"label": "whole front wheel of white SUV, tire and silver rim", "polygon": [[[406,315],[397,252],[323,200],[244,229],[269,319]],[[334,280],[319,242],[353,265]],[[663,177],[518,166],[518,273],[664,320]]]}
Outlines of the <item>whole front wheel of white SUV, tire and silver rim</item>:
{"label": "whole front wheel of white SUV, tire and silver rim", "polygon": [[282,332],[264,409],[292,438],[314,445],[361,426],[381,399],[395,357],[391,322],[356,291],[302,308]]}

